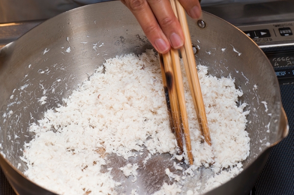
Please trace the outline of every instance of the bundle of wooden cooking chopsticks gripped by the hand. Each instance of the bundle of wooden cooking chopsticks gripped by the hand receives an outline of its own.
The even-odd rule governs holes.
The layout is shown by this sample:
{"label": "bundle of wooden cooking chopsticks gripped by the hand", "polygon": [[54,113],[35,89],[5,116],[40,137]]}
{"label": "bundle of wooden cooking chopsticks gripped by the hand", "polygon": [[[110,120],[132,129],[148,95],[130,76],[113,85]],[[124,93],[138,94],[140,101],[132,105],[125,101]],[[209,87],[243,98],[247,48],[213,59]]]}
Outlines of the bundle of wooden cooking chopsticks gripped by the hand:
{"label": "bundle of wooden cooking chopsticks gripped by the hand", "polygon": [[[187,74],[189,87],[192,94],[193,104],[197,114],[198,123],[205,141],[209,145],[211,145],[202,92],[200,89],[200,83],[197,74],[196,62],[192,49],[192,43],[190,39],[190,32],[188,28],[185,10],[178,0],[170,1],[172,4],[173,12],[175,16],[178,18],[184,32],[185,44],[180,49],[180,51],[182,54],[185,71]],[[180,149],[180,154],[184,152],[184,136],[189,163],[192,165],[193,155],[178,50],[171,48],[171,50],[168,53],[159,54],[159,58],[163,78],[163,85],[165,89],[166,100],[169,110],[171,129],[172,132],[175,133],[177,145]]]}

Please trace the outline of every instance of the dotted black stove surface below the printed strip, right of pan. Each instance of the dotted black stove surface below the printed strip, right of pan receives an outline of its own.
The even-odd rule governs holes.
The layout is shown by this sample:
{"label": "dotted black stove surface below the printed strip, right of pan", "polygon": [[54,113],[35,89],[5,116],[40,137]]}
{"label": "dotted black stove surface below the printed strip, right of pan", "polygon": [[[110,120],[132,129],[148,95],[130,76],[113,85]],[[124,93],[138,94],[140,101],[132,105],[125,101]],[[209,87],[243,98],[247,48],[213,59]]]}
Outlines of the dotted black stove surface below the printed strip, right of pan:
{"label": "dotted black stove surface below the printed strip, right of pan", "polygon": [[289,134],[273,147],[254,195],[294,195],[294,85],[281,85],[280,90]]}

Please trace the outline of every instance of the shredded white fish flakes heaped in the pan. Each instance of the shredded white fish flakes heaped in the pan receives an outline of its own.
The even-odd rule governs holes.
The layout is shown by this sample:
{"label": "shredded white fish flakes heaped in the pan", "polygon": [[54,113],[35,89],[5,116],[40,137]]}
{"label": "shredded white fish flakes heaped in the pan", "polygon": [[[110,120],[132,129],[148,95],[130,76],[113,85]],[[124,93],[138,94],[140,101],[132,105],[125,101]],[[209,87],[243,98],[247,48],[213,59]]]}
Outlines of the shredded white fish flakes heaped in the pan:
{"label": "shredded white fish flakes heaped in the pan", "polygon": [[[197,67],[212,146],[203,142],[184,78],[194,165],[181,169],[179,161],[174,163],[182,174],[167,169],[172,183],[163,183],[155,195],[207,192],[240,173],[241,161],[249,155],[250,139],[245,131],[249,111],[244,111],[245,103],[238,104],[243,92],[235,88],[234,79],[216,78],[207,73],[206,66]],[[112,168],[101,172],[110,153],[129,159],[137,155],[134,151],[147,148],[146,162],[155,153],[169,152],[173,159],[182,158],[176,153],[159,60],[153,50],[139,57],[127,54],[106,60],[64,103],[49,109],[38,124],[30,126],[35,137],[25,146],[23,156],[28,166],[25,175],[52,192],[118,194],[116,187],[121,183],[110,174]],[[126,177],[135,176],[136,182],[138,168],[128,164],[121,170]],[[205,181],[197,180],[197,173],[205,170]]]}

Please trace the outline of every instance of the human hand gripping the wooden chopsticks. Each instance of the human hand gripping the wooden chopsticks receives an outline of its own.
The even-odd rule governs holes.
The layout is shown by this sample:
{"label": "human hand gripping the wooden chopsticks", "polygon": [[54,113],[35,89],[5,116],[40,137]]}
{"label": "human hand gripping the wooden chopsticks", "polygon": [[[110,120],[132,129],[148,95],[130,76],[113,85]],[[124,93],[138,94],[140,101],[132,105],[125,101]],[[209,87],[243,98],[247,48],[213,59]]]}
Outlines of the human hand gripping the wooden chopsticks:
{"label": "human hand gripping the wooden chopsticks", "polygon": [[[159,53],[184,45],[184,35],[169,0],[121,0],[136,17],[150,43]],[[193,19],[201,17],[198,0],[179,0]]]}

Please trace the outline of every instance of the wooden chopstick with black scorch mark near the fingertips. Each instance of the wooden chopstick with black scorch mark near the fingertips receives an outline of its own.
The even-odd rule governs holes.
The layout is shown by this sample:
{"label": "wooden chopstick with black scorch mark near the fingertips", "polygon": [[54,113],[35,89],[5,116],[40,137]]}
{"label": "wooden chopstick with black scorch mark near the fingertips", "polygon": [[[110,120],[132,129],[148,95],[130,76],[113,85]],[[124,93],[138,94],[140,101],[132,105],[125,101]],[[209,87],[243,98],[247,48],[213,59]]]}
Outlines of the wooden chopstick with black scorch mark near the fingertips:
{"label": "wooden chopstick with black scorch mark near the fingertips", "polygon": [[180,110],[175,88],[174,72],[172,69],[172,56],[171,53],[163,54],[163,65],[164,65],[164,77],[166,79],[166,84],[169,92],[169,99],[172,110],[172,123],[173,129],[175,132],[175,137],[177,145],[180,149],[179,154],[182,154],[183,151],[183,138],[182,138],[182,128],[181,128],[181,119],[180,119]]}

